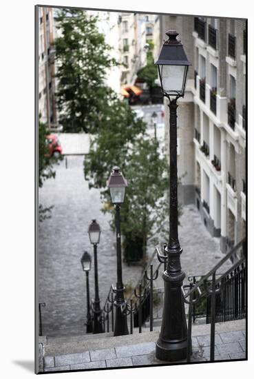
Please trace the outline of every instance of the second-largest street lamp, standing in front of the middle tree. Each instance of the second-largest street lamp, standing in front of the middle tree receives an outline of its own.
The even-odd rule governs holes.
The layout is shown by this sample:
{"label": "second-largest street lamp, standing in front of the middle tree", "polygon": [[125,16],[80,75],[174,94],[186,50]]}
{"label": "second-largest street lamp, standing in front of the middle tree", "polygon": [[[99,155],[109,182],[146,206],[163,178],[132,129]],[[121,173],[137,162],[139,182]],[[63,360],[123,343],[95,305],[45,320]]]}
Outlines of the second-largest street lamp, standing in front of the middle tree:
{"label": "second-largest street lamp, standing in front of the middle tree", "polygon": [[125,297],[123,294],[123,273],[122,273],[122,256],[121,256],[121,235],[120,235],[120,205],[125,198],[125,188],[127,187],[127,181],[123,174],[120,172],[120,168],[115,166],[109,176],[107,182],[109,187],[112,203],[116,212],[116,264],[117,264],[117,282],[114,292],[116,293],[116,300],[114,305],[116,307],[116,318],[114,327],[114,336],[122,336],[123,334],[129,334],[127,327],[127,314],[125,309]]}

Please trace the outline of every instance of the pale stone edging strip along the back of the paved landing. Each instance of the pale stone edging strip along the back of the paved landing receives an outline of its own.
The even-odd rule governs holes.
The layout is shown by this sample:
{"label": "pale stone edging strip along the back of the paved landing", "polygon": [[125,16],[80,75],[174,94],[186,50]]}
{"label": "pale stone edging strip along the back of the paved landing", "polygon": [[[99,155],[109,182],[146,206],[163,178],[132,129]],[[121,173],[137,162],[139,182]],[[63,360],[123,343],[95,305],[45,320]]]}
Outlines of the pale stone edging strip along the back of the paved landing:
{"label": "pale stone edging strip along the back of the paved landing", "polygon": [[[215,333],[226,331],[245,330],[246,320],[235,320],[227,322],[216,322]],[[206,336],[210,334],[211,325],[193,325],[192,336]],[[127,336],[105,337],[94,340],[84,340],[76,342],[75,338],[71,342],[63,344],[51,344],[44,346],[44,356],[62,356],[65,354],[80,354],[89,350],[109,349],[127,345],[135,345],[141,342],[156,342],[160,334],[160,328],[149,333],[129,334]]]}

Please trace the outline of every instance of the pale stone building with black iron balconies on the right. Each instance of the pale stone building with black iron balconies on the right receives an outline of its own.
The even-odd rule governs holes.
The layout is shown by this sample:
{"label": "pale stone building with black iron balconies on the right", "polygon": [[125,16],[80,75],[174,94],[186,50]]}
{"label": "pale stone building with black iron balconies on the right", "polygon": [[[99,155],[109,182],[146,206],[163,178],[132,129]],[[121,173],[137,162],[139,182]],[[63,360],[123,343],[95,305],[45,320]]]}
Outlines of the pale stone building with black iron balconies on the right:
{"label": "pale stone building with black iron balconies on the right", "polygon": [[[160,40],[177,30],[192,63],[178,107],[180,201],[195,203],[227,252],[246,233],[246,20],[163,15],[160,21]],[[169,145],[168,128],[165,139]]]}

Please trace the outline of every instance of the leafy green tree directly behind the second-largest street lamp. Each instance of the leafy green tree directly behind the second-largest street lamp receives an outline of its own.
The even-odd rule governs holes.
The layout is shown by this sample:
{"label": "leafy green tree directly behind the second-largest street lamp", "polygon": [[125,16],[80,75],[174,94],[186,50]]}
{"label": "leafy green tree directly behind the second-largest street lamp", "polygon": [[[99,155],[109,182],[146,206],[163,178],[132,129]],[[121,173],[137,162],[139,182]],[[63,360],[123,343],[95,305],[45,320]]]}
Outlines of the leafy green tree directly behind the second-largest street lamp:
{"label": "leafy green tree directly behind the second-largest street lamp", "polygon": [[114,229],[114,208],[106,182],[112,167],[120,166],[129,184],[121,207],[125,254],[131,247],[138,247],[145,256],[149,238],[154,238],[155,232],[168,231],[167,159],[160,154],[158,141],[145,133],[145,123],[135,119],[129,105],[118,100],[111,113],[105,116],[104,126],[85,158],[85,177],[89,178],[89,187],[100,188],[103,211],[112,213]]}

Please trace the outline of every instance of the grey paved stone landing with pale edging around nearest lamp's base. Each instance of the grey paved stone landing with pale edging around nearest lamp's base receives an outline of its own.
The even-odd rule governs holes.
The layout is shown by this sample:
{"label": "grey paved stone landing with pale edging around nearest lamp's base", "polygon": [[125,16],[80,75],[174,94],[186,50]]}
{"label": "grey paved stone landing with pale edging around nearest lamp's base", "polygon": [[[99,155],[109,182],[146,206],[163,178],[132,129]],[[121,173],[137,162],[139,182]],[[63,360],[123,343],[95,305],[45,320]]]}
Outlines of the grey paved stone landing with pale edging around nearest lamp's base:
{"label": "grey paved stone landing with pale edging around nearest lamp's base", "polygon": [[[215,360],[245,359],[245,320],[215,325]],[[41,371],[70,371],[144,365],[169,365],[155,357],[155,342],[160,326],[154,331],[138,328],[134,334],[114,337],[113,333],[71,337],[40,337],[43,344]],[[209,360],[210,325],[193,325],[193,362]],[[182,361],[182,363],[186,362]],[[173,363],[173,362],[171,362]]]}

